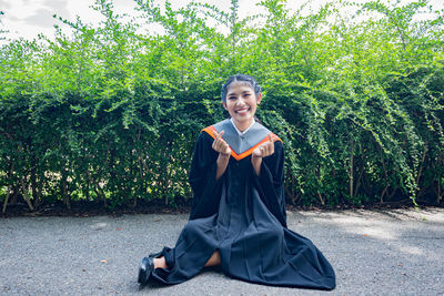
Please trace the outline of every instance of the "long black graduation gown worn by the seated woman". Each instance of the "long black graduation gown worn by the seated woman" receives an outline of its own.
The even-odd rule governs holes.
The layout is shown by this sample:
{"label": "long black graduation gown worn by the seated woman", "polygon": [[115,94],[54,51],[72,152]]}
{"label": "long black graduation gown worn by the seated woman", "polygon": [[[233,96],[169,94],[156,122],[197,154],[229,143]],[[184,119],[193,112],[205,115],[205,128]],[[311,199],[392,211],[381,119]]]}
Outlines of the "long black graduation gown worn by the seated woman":
{"label": "long black graduation gown worn by the seated woman", "polygon": [[281,141],[274,142],[274,154],[263,159],[260,176],[250,151],[243,157],[236,154],[239,160],[230,157],[219,181],[212,143],[209,131],[200,133],[189,176],[194,194],[190,221],[175,247],[161,252],[170,267],[155,269],[153,277],[164,284],[182,283],[201,272],[219,249],[221,268],[231,277],[333,289],[335,275],[330,263],[310,239],[286,227]]}

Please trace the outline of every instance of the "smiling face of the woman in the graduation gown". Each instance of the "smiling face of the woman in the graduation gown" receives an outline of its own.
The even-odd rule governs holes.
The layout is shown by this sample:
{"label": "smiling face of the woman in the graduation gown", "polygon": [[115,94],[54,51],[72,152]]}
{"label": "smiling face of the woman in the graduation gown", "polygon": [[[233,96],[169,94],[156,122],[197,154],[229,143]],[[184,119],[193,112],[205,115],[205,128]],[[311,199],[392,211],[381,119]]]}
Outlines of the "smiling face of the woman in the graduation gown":
{"label": "smiling face of the woman in the graduation gown", "polygon": [[256,106],[261,100],[262,93],[256,96],[248,82],[235,81],[229,85],[223,106],[229,111],[236,127],[243,131],[253,122]]}

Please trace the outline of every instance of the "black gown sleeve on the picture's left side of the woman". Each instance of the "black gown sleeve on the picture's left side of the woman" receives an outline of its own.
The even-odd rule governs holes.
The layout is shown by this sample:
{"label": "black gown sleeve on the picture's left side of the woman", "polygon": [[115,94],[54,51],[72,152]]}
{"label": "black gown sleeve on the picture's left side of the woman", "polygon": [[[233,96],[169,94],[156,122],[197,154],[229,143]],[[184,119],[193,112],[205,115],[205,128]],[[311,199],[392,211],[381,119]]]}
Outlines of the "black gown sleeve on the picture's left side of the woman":
{"label": "black gown sleeve on the picture's left side of the woman", "polygon": [[218,213],[224,175],[218,181],[218,152],[212,149],[213,139],[201,132],[194,146],[189,182],[193,191],[190,220],[209,217]]}

